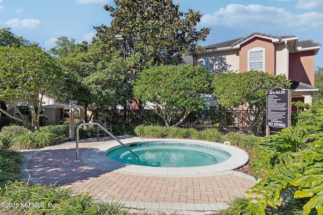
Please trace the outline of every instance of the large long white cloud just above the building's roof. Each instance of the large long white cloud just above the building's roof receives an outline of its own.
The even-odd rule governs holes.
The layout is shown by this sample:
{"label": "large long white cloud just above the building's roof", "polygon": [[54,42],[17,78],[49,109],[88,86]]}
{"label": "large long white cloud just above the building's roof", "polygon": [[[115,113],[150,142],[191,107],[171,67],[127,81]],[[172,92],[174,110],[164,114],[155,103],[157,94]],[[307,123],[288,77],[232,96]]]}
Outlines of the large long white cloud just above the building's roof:
{"label": "large long white cloud just above the building's roof", "polygon": [[310,12],[295,15],[282,8],[261,5],[231,4],[226,8],[204,15],[201,25],[223,25],[261,31],[277,28],[305,28],[323,25],[323,13]]}

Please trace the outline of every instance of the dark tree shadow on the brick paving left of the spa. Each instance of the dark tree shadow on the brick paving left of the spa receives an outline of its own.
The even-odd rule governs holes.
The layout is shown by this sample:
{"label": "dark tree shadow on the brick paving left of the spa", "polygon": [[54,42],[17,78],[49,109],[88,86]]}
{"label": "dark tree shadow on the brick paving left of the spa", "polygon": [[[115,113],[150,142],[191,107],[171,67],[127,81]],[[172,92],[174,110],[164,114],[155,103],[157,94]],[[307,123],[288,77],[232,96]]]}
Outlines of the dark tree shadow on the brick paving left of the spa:
{"label": "dark tree shadow on the brick paving left of the spa", "polygon": [[[120,139],[126,139],[131,136],[122,136]],[[89,142],[96,145],[109,141],[110,138],[96,138],[79,141],[79,155],[90,148]],[[72,142],[71,142],[72,143]],[[75,143],[75,142],[74,142]],[[69,147],[60,146],[38,151],[24,151],[24,157],[29,156],[26,165],[28,172],[23,173],[24,178],[32,177],[36,182],[41,184],[54,184],[57,186],[68,185],[74,182],[85,181],[89,178],[99,177],[110,171],[97,169],[82,159],[76,160],[76,144],[70,144]],[[120,166],[122,167],[122,166]]]}

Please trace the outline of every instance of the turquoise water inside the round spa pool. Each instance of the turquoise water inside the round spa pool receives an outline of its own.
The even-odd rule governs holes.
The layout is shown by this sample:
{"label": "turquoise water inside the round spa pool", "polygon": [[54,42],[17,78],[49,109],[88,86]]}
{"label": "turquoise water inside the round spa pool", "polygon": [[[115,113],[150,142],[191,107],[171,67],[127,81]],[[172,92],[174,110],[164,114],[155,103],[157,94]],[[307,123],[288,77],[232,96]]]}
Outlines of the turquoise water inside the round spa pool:
{"label": "turquoise water inside the round spa pool", "polygon": [[[221,148],[187,142],[138,142],[128,145],[140,158],[142,166],[200,167],[219,164],[231,157]],[[125,164],[138,165],[138,159],[123,146],[106,151],[107,157]]]}

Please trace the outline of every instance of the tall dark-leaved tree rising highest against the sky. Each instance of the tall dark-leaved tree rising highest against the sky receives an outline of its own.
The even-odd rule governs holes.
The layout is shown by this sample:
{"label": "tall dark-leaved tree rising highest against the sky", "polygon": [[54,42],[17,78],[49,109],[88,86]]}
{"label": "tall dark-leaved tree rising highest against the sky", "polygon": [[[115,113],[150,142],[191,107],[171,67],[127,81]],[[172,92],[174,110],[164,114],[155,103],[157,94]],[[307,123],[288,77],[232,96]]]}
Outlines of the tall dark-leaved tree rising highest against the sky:
{"label": "tall dark-leaved tree rising highest against the sky", "polygon": [[127,36],[127,54],[136,56],[137,66],[147,69],[158,65],[179,65],[183,55],[195,56],[199,41],[205,40],[208,28],[196,29],[202,14],[179,11],[172,0],[114,0],[115,8],[104,6],[113,17],[111,26],[94,27],[103,42],[122,50],[123,43],[114,35]]}

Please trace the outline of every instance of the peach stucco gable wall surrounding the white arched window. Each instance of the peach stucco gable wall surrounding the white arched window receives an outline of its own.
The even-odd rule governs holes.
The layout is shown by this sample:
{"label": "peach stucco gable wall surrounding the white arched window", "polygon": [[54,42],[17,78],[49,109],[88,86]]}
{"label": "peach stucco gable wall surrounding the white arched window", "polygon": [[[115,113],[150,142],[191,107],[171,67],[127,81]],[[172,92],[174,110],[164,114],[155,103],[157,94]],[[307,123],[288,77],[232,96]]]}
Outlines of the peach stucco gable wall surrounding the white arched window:
{"label": "peach stucco gable wall surrounding the white arched window", "polygon": [[264,72],[269,74],[275,74],[275,46],[272,41],[268,41],[262,38],[253,38],[244,43],[240,47],[240,72],[248,71],[248,50],[255,47],[261,47],[265,49],[265,68]]}

